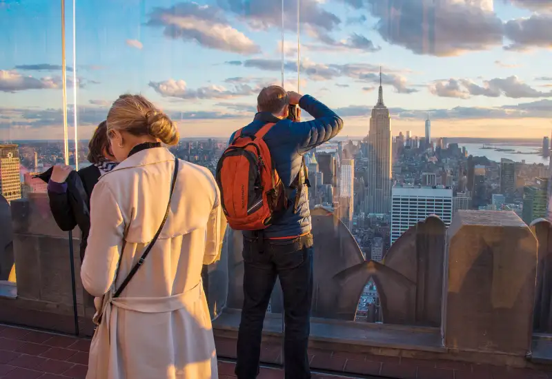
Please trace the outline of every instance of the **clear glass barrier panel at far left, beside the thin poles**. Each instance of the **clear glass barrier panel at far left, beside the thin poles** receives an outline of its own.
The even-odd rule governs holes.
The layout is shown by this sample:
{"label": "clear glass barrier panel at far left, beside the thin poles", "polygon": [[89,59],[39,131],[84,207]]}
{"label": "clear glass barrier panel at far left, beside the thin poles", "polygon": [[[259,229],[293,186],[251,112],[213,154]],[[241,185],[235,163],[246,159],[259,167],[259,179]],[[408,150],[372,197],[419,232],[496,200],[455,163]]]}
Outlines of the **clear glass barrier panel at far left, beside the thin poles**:
{"label": "clear glass barrier panel at far left, beside the thin poles", "polygon": [[[70,81],[72,67],[63,70],[61,16],[59,1],[0,2],[0,296],[17,296],[14,309],[49,309],[32,326],[74,333],[70,242],[37,177],[65,160],[63,74]],[[3,322],[32,320],[12,317],[0,312]]]}

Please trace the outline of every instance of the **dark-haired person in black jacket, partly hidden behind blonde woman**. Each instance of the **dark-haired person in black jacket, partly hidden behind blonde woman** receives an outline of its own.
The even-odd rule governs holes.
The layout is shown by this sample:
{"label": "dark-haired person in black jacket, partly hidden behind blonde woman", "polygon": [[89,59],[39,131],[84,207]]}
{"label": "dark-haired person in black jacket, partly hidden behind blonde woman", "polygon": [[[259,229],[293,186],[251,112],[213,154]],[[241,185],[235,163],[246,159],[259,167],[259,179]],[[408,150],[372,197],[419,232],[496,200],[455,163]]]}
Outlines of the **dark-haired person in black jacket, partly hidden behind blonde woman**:
{"label": "dark-haired person in black jacket, partly hidden behind blonde woman", "polygon": [[78,172],[67,165],[55,165],[39,175],[48,183],[50,209],[54,219],[63,231],[81,229],[81,262],[86,251],[86,240],[90,231],[90,196],[102,174],[110,172],[115,163],[107,136],[106,121],[96,128],[88,143],[88,161],[92,165]]}

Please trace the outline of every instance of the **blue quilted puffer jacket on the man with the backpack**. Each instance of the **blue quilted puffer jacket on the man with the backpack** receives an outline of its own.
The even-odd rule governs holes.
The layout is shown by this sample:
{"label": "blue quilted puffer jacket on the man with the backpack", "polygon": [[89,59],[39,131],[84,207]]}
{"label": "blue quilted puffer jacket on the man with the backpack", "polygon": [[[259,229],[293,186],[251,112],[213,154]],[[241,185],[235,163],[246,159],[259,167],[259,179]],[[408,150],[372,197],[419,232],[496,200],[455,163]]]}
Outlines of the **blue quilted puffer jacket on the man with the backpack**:
{"label": "blue quilted puffer jacket on the man with the backpack", "polygon": [[[312,96],[304,95],[299,101],[299,107],[315,119],[294,123],[288,119],[278,119],[269,112],[259,112],[253,122],[243,130],[244,133],[254,134],[266,123],[276,123],[264,136],[264,141],[270,149],[279,176],[288,187],[301,169],[303,155],[330,141],[343,129],[343,120]],[[230,142],[233,141],[234,135],[235,133],[230,137]],[[294,198],[295,191],[290,193],[290,199]],[[311,232],[311,212],[308,209],[308,192],[304,190],[297,212],[294,213],[293,207],[289,207],[285,214],[264,230],[264,236],[293,237],[307,232]]]}

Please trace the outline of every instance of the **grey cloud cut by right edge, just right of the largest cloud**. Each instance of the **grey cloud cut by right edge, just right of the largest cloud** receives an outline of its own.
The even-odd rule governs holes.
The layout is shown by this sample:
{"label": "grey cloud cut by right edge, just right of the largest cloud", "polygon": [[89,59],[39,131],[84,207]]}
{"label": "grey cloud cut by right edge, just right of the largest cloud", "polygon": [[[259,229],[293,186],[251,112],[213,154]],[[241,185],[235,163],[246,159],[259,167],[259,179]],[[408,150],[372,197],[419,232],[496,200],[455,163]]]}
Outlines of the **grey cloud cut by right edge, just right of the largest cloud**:
{"label": "grey cloud cut by right edge, just right of the largest cloud", "polygon": [[504,23],[504,35],[512,43],[506,50],[552,48],[552,14],[533,14],[529,18]]}

